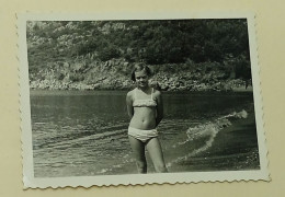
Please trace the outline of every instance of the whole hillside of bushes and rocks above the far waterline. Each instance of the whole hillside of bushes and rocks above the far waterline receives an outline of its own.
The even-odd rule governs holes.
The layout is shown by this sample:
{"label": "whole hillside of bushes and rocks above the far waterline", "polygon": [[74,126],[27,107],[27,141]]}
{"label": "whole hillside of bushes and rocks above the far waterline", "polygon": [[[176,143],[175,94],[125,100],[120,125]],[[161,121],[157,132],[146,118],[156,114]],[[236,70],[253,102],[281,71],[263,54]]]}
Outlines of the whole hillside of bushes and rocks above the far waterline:
{"label": "whole hillside of bushes and rocks above the far waterline", "polygon": [[134,62],[163,90],[220,90],[251,78],[247,20],[27,22],[32,88],[128,89]]}

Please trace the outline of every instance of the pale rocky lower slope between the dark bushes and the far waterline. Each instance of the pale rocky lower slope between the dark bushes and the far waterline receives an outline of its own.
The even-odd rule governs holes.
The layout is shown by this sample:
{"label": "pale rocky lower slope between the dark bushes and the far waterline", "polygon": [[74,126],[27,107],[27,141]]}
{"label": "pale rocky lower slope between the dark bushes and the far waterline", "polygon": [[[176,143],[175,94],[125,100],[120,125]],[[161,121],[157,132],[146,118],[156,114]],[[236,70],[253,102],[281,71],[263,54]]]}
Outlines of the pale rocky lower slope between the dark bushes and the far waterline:
{"label": "pale rocky lower slope between the dark bushes and the far waterline", "polygon": [[[150,84],[162,91],[246,91],[246,81],[230,78],[219,65],[152,65]],[[30,74],[30,88],[36,90],[130,90],[133,66],[125,59],[90,62],[55,62]],[[251,82],[248,81],[249,85]]]}

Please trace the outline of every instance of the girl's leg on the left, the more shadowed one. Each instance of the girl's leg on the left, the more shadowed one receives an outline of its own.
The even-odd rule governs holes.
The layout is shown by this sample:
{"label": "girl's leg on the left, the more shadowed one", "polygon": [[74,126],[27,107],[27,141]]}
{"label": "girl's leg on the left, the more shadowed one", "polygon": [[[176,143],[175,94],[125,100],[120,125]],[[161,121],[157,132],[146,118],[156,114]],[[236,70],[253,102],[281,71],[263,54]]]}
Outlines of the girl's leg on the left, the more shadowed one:
{"label": "girl's leg on the left, the more shadowed one", "polygon": [[134,151],[135,159],[137,162],[138,173],[147,173],[147,160],[145,155],[145,143],[137,140],[136,138],[128,136],[130,147]]}

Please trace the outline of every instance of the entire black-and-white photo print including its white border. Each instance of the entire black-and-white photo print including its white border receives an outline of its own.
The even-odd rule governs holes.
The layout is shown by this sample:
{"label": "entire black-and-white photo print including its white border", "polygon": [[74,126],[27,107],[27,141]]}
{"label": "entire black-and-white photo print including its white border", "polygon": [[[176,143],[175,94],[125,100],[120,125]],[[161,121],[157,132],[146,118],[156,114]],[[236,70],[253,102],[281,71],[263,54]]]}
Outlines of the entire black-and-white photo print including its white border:
{"label": "entire black-and-white photo print including its white border", "polygon": [[24,184],[266,179],[251,22],[23,16]]}

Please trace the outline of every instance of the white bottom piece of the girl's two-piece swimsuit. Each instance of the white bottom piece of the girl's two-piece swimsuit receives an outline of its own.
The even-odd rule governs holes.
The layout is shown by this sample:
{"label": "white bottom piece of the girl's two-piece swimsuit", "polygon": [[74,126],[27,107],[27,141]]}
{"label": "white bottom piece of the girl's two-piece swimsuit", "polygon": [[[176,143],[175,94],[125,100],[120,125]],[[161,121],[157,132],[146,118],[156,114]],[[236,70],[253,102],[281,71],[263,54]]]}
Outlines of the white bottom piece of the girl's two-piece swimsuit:
{"label": "white bottom piece of the girl's two-piece swimsuit", "polygon": [[132,136],[142,142],[147,142],[151,138],[158,137],[158,130],[156,128],[151,130],[142,130],[142,129],[128,127],[128,136]]}

